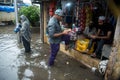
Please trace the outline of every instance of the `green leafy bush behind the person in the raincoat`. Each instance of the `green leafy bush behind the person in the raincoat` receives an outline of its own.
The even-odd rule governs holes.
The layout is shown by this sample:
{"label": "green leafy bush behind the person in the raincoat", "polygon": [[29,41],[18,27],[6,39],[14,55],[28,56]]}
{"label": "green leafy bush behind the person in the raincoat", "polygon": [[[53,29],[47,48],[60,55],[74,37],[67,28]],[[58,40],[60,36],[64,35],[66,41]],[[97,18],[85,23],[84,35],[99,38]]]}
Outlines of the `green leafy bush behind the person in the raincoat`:
{"label": "green leafy bush behind the person in the raincoat", "polygon": [[35,23],[40,19],[40,8],[38,6],[21,7],[19,10],[19,16],[22,14],[29,19],[32,26],[35,26]]}

